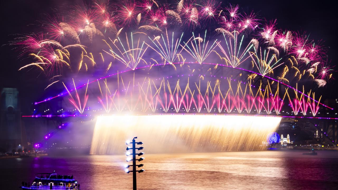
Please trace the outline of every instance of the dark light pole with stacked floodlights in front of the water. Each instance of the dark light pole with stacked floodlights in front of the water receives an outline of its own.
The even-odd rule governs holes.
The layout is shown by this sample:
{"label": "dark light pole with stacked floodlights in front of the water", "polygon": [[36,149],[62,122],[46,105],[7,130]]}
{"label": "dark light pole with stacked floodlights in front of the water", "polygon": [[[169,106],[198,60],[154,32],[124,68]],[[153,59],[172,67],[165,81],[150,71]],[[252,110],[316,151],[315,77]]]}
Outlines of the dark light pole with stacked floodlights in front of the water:
{"label": "dark light pole with stacked floodlights in front of the water", "polygon": [[132,159],[130,157],[127,157],[127,162],[132,161],[132,165],[128,165],[128,164],[125,165],[126,168],[129,168],[130,166],[132,166],[132,170],[125,169],[125,172],[127,172],[127,173],[132,172],[132,189],[133,190],[136,190],[136,172],[142,173],[142,172],[145,171],[144,169],[136,170],[136,166],[138,168],[144,166],[143,164],[136,165],[136,161],[141,162],[142,160],[144,160],[143,157],[136,159],[136,155],[142,156],[144,154],[144,152],[136,153],[136,149],[137,150],[143,149],[142,146],[139,147],[139,148],[136,148],[136,144],[141,145],[141,144],[143,144],[143,142],[135,142],[135,139],[137,139],[137,137],[134,137],[132,139],[132,142],[126,141],[127,145],[132,144],[132,147],[130,147],[130,146],[127,147],[127,150],[132,149],[132,153],[130,154],[130,152],[126,152],[127,156],[132,155]]}

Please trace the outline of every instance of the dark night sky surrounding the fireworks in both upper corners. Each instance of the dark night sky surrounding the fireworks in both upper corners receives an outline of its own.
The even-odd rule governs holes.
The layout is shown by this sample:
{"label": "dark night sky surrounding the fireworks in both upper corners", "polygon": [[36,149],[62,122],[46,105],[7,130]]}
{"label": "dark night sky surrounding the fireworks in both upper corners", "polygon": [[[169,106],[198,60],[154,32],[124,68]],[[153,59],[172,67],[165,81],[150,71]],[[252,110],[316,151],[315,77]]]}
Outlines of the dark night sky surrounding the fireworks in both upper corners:
{"label": "dark night sky surrounding the fireworks in both upper corners", "polygon": [[[53,15],[55,8],[62,11],[60,5],[67,7],[69,3],[80,3],[81,1],[67,0],[7,0],[1,2],[1,68],[0,89],[3,87],[14,87],[19,89],[21,95],[22,110],[29,110],[30,104],[37,99],[46,97],[48,92],[44,91],[46,81],[43,77],[37,77],[32,72],[18,71],[20,67],[29,63],[29,60],[18,58],[19,52],[9,46],[9,41],[14,40],[16,34],[38,32],[36,24],[38,21],[46,20],[45,15]],[[87,1],[86,1],[87,2]],[[253,10],[261,18],[267,20],[277,19],[277,28],[289,29],[310,34],[315,41],[322,40],[323,45],[328,48],[331,65],[338,61],[337,52],[337,10],[332,1],[316,1],[315,3],[305,1],[228,1],[223,2],[239,4],[248,12]],[[289,1],[290,2],[290,1]],[[336,70],[338,68],[335,68]],[[338,72],[333,77],[338,79]],[[48,82],[48,81],[47,81]],[[323,95],[328,98],[337,98],[336,82],[331,80],[324,88]],[[53,93],[56,94],[56,93]]]}

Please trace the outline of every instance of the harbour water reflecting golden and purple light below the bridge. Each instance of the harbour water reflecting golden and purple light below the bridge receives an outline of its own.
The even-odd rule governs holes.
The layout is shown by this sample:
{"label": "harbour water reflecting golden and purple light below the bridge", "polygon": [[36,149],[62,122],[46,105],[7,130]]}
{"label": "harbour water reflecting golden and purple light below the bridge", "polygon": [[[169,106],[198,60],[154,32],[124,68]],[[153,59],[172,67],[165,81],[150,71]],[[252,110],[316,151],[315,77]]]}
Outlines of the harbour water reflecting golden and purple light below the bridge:
{"label": "harbour water reflecting golden and purple light below the bridge", "polygon": [[[304,152],[304,151],[303,151]],[[138,189],[337,189],[338,151],[145,154]],[[74,174],[83,190],[132,189],[125,155],[1,159],[2,188],[16,189],[35,173]]]}

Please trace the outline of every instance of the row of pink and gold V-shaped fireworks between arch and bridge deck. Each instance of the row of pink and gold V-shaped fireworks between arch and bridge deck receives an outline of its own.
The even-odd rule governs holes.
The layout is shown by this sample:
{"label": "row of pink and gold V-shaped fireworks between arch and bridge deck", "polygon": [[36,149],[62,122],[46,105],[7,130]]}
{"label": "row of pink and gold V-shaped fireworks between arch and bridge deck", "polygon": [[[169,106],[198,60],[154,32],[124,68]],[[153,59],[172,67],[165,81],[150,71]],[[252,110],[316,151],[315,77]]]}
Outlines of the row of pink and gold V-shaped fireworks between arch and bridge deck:
{"label": "row of pink and gold V-shaped fireworks between arch and bridge deck", "polygon": [[[190,81],[194,77],[200,78],[201,75],[188,77],[185,82],[182,78],[172,81],[166,78],[150,79],[143,78],[138,81],[128,80],[117,76],[113,84],[97,80],[99,95],[97,100],[105,114],[115,113],[218,113],[218,114],[281,114],[284,100],[291,106],[293,115],[316,116],[319,109],[319,101],[315,101],[314,93],[309,92],[307,97],[297,89],[289,92],[288,89],[280,90],[277,85],[275,90],[271,89],[270,84],[252,85],[251,82],[236,81],[236,79],[223,78],[223,80]],[[133,77],[135,78],[135,76]],[[227,85],[224,84],[226,81]],[[101,84],[100,84],[101,83]],[[220,84],[223,84],[222,86]],[[83,95],[79,95],[79,90],[74,90],[74,95],[69,92],[69,102],[82,114],[88,101],[88,82],[85,85]],[[280,93],[281,92],[281,93]],[[294,94],[290,96],[289,93]],[[291,94],[291,95],[293,95]],[[311,98],[312,95],[312,99]],[[76,99],[74,99],[74,97]],[[81,98],[83,97],[83,98]],[[81,104],[81,102],[83,102]],[[95,102],[90,102],[95,105]],[[100,106],[100,107],[101,107]],[[310,109],[310,110],[308,110]]]}

